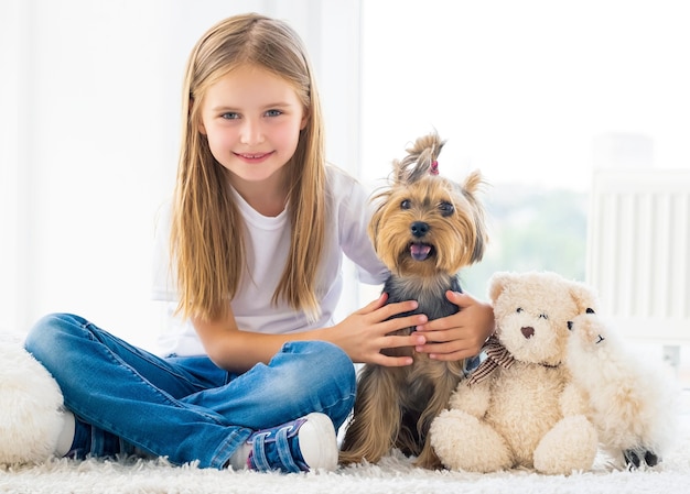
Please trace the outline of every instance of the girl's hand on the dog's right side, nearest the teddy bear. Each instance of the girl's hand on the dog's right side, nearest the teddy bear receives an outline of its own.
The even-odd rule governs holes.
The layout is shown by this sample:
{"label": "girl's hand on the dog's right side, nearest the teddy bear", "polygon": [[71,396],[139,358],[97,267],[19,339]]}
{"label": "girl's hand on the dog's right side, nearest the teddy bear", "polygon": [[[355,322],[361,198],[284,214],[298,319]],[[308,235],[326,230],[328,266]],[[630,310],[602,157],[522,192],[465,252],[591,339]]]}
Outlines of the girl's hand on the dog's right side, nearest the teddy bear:
{"label": "girl's hand on the dog's right side, nearest the teddy bear", "polygon": [[479,353],[482,345],[494,332],[494,309],[468,294],[446,292],[448,299],[460,311],[417,327],[427,343],[414,350],[429,353],[429,358],[444,361],[467,359]]}

